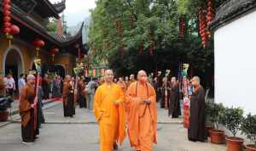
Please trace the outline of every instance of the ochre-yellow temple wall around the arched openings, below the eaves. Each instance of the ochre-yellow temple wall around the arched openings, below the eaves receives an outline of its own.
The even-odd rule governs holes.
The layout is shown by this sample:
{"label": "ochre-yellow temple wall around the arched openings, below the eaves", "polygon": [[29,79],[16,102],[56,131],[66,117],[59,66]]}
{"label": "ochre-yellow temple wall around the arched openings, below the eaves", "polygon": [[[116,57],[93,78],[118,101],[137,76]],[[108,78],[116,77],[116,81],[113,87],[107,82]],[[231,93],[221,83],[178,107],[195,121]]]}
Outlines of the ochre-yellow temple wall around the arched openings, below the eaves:
{"label": "ochre-yellow temple wall around the arched openings, below the eaves", "polygon": [[[11,48],[9,48],[9,42],[0,37],[0,71],[3,73],[4,60],[9,52],[9,50],[15,49],[20,53],[20,59],[22,62],[22,73],[28,73],[32,69],[33,60],[36,57],[36,50],[34,47],[26,45],[25,42],[15,41],[12,42]],[[67,71],[68,74],[71,73],[73,69],[73,56],[71,54],[60,54],[55,56],[54,62],[49,53],[45,51],[39,52],[39,58],[41,59],[42,64],[61,64]],[[14,60],[16,61],[16,60]],[[20,73],[19,73],[20,74]]]}

